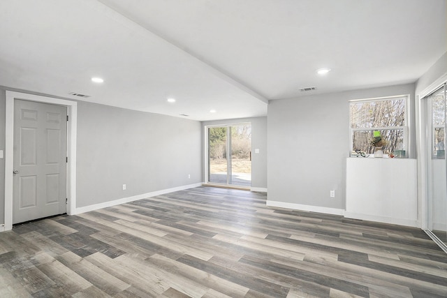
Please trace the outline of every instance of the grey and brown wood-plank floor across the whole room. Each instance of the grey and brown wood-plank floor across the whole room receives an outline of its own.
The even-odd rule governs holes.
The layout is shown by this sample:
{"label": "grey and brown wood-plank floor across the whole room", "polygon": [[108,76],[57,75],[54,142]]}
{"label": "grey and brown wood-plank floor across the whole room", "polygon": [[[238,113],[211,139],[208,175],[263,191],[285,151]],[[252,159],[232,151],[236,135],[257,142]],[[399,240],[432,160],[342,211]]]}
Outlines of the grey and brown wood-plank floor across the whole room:
{"label": "grey and brown wood-plank floor across the whole room", "polygon": [[416,228],[199,187],[0,233],[0,297],[447,297]]}

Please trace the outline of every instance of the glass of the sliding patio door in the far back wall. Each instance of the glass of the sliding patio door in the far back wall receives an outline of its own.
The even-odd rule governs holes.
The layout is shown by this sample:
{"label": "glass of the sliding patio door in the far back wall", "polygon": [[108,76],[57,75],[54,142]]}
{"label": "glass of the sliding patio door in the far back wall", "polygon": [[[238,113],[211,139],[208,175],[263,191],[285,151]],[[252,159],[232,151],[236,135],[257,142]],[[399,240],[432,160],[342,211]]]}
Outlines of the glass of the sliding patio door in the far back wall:
{"label": "glass of the sliding patio door in the far back wall", "polygon": [[208,182],[251,186],[251,124],[208,128]]}

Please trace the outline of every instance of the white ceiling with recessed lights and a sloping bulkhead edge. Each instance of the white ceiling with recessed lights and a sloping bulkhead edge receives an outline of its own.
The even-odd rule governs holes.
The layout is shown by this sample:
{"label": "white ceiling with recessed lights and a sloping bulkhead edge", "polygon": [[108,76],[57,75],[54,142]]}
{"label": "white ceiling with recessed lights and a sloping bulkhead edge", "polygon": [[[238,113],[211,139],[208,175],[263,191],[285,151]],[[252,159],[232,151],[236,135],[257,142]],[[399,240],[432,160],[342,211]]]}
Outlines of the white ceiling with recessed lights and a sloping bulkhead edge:
{"label": "white ceiling with recessed lights and a sloping bulkhead edge", "polygon": [[446,15],[446,0],[1,0],[0,85],[265,116],[268,100],[415,82],[447,52]]}

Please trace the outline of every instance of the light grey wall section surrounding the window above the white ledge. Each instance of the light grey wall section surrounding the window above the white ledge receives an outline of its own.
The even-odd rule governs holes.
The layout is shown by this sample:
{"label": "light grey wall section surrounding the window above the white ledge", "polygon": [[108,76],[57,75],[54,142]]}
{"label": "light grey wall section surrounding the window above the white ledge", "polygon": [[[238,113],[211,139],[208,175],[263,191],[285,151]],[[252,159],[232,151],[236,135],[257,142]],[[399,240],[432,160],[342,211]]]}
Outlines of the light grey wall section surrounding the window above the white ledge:
{"label": "light grey wall section surrounding the window above the white ledge", "polygon": [[[284,207],[307,206],[314,211],[342,214],[349,156],[348,101],[402,94],[410,94],[414,111],[414,84],[270,100],[268,204],[281,202]],[[414,121],[412,142],[413,126]],[[335,190],[335,198],[330,198],[330,190]]]}

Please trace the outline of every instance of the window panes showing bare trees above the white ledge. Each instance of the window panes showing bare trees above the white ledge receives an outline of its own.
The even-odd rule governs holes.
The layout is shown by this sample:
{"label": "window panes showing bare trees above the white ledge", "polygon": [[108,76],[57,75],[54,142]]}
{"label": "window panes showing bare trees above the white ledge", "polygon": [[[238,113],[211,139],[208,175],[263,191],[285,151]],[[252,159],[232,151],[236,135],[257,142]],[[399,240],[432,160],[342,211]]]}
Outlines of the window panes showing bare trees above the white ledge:
{"label": "window panes showing bare trees above the white ledge", "polygon": [[406,150],[408,97],[351,100],[349,102],[351,151],[374,153],[374,145],[371,143],[374,131],[379,131],[381,137],[386,140],[383,153]]}

